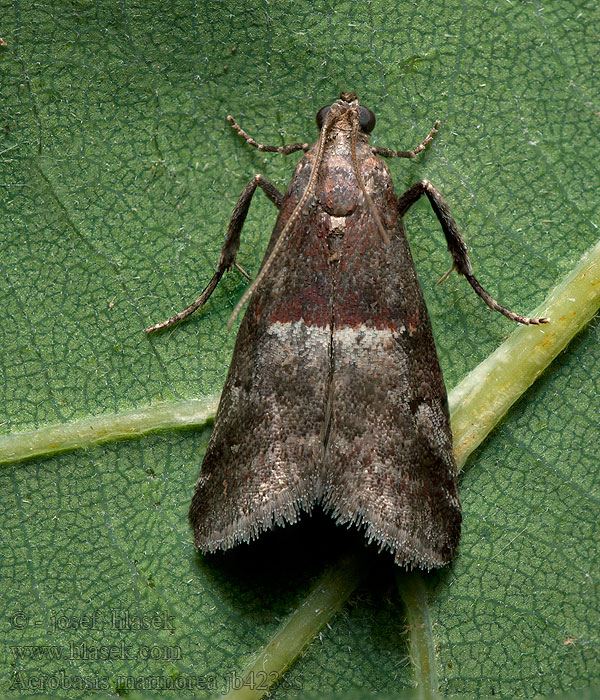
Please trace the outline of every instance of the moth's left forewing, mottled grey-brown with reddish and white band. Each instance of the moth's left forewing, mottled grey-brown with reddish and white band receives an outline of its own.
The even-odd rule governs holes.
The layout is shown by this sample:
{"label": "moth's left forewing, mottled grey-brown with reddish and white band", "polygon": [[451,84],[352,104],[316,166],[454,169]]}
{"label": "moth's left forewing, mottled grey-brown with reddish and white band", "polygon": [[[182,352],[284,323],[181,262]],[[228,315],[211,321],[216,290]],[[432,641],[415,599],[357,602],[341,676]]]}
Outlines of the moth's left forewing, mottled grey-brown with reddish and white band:
{"label": "moth's left forewing, mottled grey-brown with reddish and white band", "polygon": [[[296,169],[268,257],[310,175]],[[194,540],[227,549],[294,522],[319,497],[331,278],[310,201],[253,295],[235,344],[215,426],[190,507]]]}

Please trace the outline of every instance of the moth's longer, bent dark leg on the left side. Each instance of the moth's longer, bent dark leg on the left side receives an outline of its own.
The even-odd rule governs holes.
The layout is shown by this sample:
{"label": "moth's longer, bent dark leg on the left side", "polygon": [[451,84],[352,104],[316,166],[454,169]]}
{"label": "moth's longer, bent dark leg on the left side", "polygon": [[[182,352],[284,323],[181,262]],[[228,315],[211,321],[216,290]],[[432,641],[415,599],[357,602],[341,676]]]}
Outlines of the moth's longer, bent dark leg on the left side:
{"label": "moth's longer, bent dark leg on the left side", "polygon": [[173,318],[163,321],[162,323],[157,323],[155,326],[150,326],[150,328],[146,328],[146,333],[153,333],[154,331],[162,330],[163,328],[170,328],[176,323],[179,323],[179,321],[182,321],[184,318],[187,318],[193,314],[196,309],[204,306],[210,295],[214,292],[217,284],[219,284],[225,270],[235,267],[245,277],[251,279],[250,276],[244,272],[242,267],[236,263],[235,256],[237,255],[240,247],[240,235],[242,232],[242,227],[244,226],[244,221],[246,220],[246,215],[248,214],[250,202],[252,201],[252,195],[256,191],[257,187],[261,188],[261,190],[278,209],[281,207],[281,203],[283,202],[283,194],[272,182],[269,182],[269,180],[264,178],[262,175],[255,175],[244,188],[240,198],[237,201],[237,204],[233,209],[231,219],[229,220],[229,226],[227,227],[227,234],[225,235],[225,243],[223,244],[223,248],[221,248],[219,264],[217,265],[217,270],[211,281],[206,285],[202,291],[202,294],[193,304],[178,313],[176,316],[173,316]]}

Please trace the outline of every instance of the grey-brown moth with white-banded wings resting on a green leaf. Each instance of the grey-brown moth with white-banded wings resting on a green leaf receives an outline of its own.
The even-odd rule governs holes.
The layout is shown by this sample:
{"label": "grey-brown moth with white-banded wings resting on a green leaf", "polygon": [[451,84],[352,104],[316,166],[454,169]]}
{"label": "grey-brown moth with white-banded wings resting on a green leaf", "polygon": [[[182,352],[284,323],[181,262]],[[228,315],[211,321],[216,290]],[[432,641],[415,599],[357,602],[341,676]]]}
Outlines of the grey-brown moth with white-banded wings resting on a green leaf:
{"label": "grey-brown moth with white-banded wings resting on a green leaf", "polygon": [[[315,144],[302,150],[287,192],[262,175],[242,192],[217,270],[172,326],[201,307],[236,254],[257,187],[279,210],[235,343],[214,429],[190,507],[194,541],[228,549],[319,504],[405,567],[453,557],[461,506],[446,389],[402,218],[425,195],[445,234],[453,269],[492,309],[523,324],[474,277],[466,245],[440,193],[427,181],[400,197],[372,147],[375,116],[354,93],[317,114]],[[244,273],[245,274],[245,273]],[[230,321],[231,323],[231,321]]]}

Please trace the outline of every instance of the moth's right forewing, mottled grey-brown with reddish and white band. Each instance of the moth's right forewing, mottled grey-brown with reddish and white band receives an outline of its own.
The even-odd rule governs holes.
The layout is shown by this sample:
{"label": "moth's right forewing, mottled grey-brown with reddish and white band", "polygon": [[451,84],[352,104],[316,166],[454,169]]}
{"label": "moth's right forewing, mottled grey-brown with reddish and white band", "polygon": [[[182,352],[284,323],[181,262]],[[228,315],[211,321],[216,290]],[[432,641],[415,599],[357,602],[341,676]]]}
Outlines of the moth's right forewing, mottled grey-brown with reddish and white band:
{"label": "moth's right forewing, mottled grey-brown with reddish and white band", "polygon": [[402,222],[388,219],[388,248],[368,212],[353,216],[335,284],[323,504],[397,564],[437,567],[461,513],[431,325]]}

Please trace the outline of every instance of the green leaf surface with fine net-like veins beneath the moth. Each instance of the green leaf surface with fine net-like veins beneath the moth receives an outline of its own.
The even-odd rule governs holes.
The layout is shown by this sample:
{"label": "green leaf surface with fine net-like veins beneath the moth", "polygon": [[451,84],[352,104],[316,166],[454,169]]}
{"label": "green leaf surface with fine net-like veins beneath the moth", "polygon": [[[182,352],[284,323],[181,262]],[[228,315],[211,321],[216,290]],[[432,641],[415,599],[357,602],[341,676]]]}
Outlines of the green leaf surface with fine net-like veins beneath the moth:
{"label": "green leaf surface with fine net-like veins beneath the moth", "polygon": [[[173,332],[142,329],[202,289],[250,177],[284,189],[297,162],[249,149],[227,114],[266,143],[311,140],[316,111],[353,89],[376,113],[373,143],[392,148],[443,119],[424,154],[390,163],[396,189],[427,177],[443,192],[476,274],[515,310],[598,238],[593,3],[1,10],[7,435],[220,391],[239,275]],[[275,219],[255,200],[239,256],[251,273]],[[425,202],[406,224],[452,388],[512,328],[463,280],[435,287],[449,259]],[[445,694],[532,697],[600,677],[598,330],[467,463],[457,559],[425,579]],[[83,678],[100,694],[208,697],[301,605],[337,555],[326,519],[195,555],[186,513],[207,439],[173,431],[0,468],[3,695],[82,697]],[[413,684],[393,571],[372,572],[276,697]],[[148,628],[123,629],[126,615]]]}

